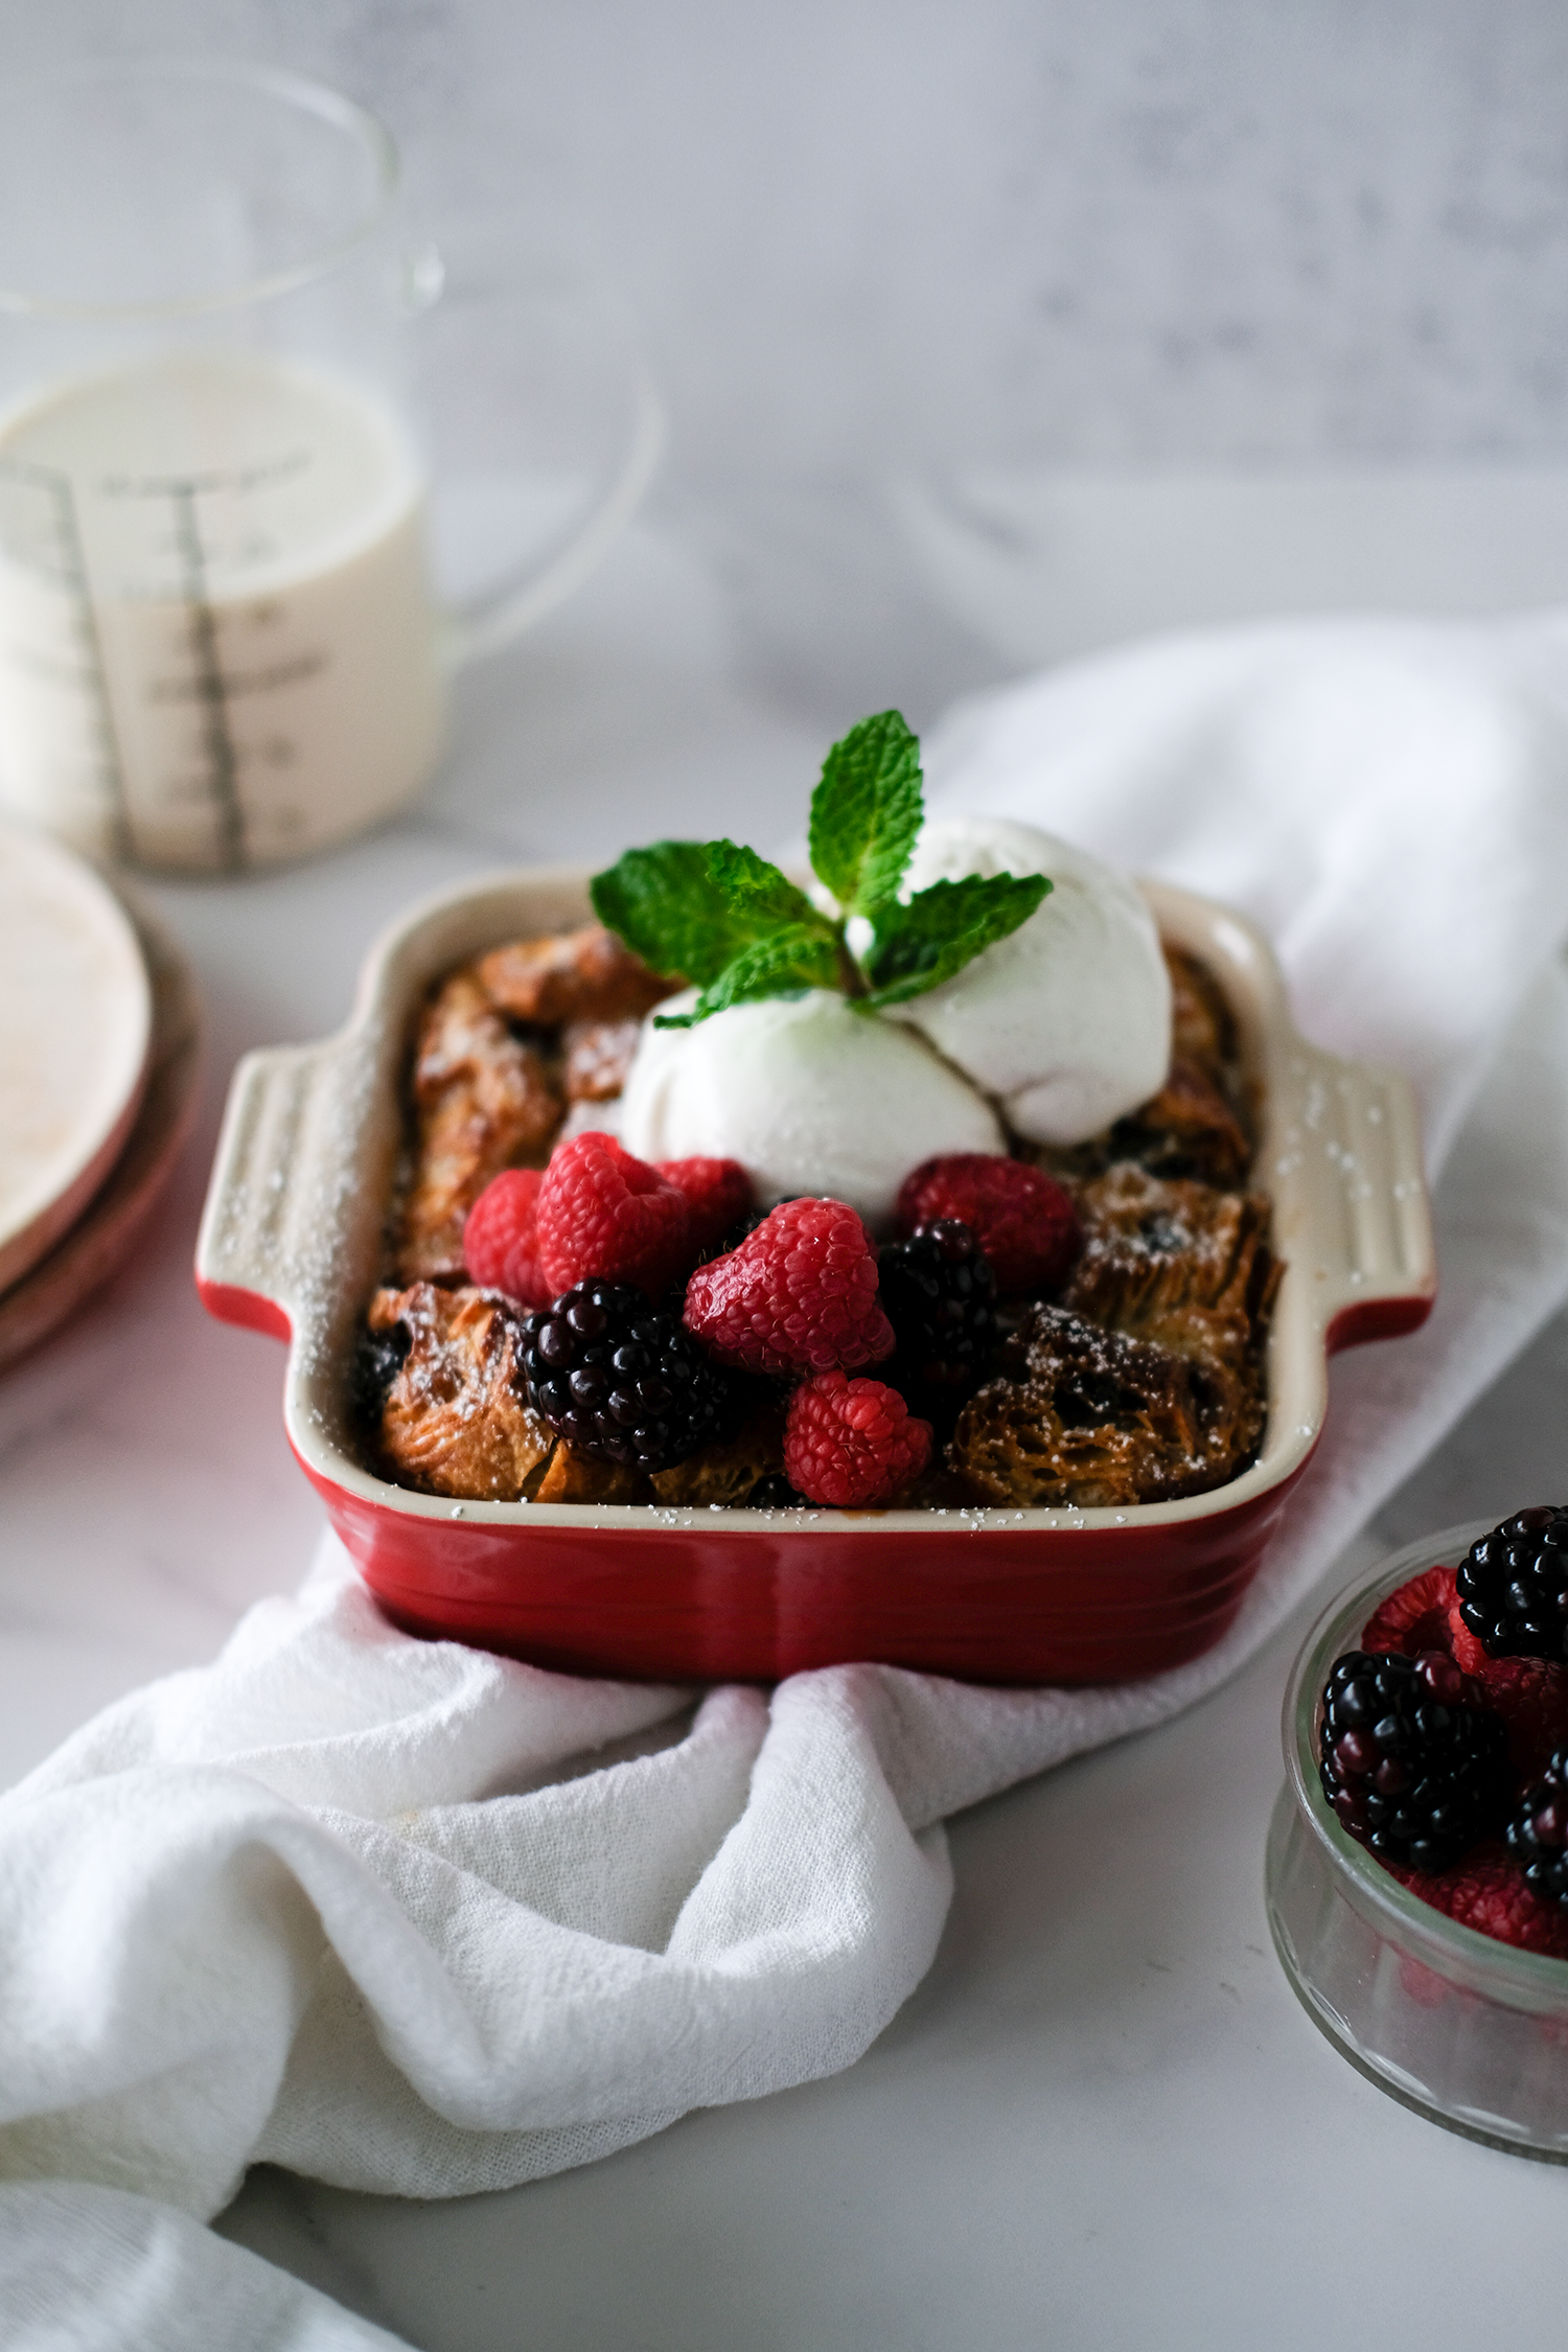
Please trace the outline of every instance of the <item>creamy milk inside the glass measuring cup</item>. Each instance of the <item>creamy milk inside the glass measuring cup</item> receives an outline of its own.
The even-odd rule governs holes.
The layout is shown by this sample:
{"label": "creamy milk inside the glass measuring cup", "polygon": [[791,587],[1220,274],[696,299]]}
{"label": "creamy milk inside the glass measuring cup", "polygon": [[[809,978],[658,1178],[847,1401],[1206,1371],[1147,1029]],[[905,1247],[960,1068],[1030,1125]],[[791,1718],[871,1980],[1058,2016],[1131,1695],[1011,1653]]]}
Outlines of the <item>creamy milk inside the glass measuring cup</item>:
{"label": "creamy milk inside the glass measuring cup", "polygon": [[423,480],[324,372],[162,358],[0,419],[0,807],[89,854],[235,870],[430,774]]}

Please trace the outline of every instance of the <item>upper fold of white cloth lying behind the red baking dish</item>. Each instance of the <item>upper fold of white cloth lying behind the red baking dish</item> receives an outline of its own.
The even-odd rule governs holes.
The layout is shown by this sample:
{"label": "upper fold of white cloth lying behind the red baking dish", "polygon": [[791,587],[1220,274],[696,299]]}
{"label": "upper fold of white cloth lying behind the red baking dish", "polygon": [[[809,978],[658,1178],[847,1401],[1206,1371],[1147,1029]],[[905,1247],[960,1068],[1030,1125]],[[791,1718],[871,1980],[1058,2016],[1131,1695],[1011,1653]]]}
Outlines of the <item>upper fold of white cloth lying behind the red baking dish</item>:
{"label": "upper fold of white cloth lying behind the red baking dish", "polygon": [[1436,1169],[1568,931],[1568,614],[1154,637],[959,703],[926,774],[1251,915],[1300,1025],[1415,1080]]}

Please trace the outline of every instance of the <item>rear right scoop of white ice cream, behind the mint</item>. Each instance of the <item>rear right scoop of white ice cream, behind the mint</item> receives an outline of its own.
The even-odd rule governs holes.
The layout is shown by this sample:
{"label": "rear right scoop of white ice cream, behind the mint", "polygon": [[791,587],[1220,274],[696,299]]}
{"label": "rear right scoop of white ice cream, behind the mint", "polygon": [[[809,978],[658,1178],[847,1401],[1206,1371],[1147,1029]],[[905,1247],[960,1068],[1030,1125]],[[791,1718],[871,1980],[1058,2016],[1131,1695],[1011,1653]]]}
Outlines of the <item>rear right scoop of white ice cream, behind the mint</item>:
{"label": "rear right scoop of white ice cream, behind the mint", "polygon": [[903,896],[964,875],[1051,875],[1051,896],[954,978],[893,1007],[1034,1143],[1081,1143],[1145,1103],[1171,1061],[1171,976],[1133,884],[1034,826],[936,816]]}

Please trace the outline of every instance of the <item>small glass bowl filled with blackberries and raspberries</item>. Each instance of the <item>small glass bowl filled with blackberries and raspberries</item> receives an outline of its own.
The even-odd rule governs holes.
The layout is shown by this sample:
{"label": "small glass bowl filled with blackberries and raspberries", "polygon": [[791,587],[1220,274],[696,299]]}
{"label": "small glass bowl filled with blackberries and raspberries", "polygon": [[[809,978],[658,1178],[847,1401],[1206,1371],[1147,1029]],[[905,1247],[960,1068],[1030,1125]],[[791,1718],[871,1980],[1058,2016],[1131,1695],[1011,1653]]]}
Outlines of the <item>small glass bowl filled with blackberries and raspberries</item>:
{"label": "small glass bowl filled with blackberries and raspberries", "polygon": [[[1455,2131],[1568,2161],[1568,1663],[1495,1658],[1472,1632],[1458,1564],[1500,1534],[1422,1538],[1307,1637],[1286,1693],[1267,1912],[1302,2006],[1361,2072]],[[1439,1828],[1418,1851],[1420,1825],[1387,1830],[1422,1766],[1453,1759],[1432,1710],[1462,1715],[1469,1764],[1458,1813],[1441,1785],[1418,1799]]]}

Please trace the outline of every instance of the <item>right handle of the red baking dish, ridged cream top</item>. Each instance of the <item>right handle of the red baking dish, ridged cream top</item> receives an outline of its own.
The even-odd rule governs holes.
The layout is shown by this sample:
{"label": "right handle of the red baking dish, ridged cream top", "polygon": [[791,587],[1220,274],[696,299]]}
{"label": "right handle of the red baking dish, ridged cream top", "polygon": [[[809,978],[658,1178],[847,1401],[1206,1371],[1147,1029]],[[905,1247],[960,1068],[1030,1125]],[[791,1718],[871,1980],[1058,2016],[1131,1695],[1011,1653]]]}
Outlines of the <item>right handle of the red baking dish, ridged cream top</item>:
{"label": "right handle of the red baking dish, ridged cream top", "polygon": [[1415,1331],[1436,1298],[1415,1089],[1298,1037],[1274,1091],[1258,1181],[1274,1190],[1298,1178],[1305,1216],[1279,1237],[1281,1256],[1312,1282],[1328,1352]]}

